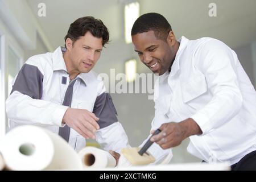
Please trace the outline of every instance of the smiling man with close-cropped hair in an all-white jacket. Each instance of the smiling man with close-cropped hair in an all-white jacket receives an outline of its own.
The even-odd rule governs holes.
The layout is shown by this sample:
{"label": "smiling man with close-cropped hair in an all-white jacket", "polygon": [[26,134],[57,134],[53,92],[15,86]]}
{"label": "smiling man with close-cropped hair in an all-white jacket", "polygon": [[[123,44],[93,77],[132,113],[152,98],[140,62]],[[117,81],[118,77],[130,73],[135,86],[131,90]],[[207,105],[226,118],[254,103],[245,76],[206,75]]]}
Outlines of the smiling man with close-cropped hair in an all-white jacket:
{"label": "smiling man with close-cropped hair in an all-white jacket", "polygon": [[131,36],[142,63],[159,74],[152,130],[162,132],[151,140],[167,149],[189,137],[197,158],[255,170],[256,92],[236,53],[212,38],[177,41],[157,13],[140,16]]}

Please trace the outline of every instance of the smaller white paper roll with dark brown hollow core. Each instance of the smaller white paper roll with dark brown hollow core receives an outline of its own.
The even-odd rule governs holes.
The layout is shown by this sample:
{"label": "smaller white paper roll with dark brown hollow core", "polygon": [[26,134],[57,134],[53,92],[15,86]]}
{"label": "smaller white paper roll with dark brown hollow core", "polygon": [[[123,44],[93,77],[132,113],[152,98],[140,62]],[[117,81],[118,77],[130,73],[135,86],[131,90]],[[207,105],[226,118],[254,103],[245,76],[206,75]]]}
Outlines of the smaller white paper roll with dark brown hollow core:
{"label": "smaller white paper roll with dark brown hollow core", "polygon": [[86,168],[115,167],[115,158],[109,152],[96,147],[85,147],[79,151],[79,156]]}

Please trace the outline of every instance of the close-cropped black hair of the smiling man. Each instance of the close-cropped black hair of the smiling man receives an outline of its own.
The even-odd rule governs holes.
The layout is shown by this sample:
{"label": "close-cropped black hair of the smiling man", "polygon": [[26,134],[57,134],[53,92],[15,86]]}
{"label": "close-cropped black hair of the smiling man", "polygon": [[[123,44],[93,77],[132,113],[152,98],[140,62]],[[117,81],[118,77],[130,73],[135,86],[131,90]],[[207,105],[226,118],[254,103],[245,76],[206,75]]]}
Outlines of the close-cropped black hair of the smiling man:
{"label": "close-cropped black hair of the smiling man", "polygon": [[156,38],[166,41],[172,27],[163,15],[158,13],[146,13],[139,16],[134,22],[133,28],[131,28],[131,36],[151,30],[155,32]]}

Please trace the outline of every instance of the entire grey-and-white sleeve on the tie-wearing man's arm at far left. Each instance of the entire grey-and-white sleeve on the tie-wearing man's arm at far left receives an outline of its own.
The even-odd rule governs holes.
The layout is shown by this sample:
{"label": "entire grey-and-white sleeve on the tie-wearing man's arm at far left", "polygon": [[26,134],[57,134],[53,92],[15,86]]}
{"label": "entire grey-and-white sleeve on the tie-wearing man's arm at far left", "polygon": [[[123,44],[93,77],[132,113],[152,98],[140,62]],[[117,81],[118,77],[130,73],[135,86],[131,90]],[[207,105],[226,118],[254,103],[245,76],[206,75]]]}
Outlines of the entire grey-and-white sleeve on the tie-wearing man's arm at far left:
{"label": "entire grey-and-white sleeve on the tie-wearing man's arm at far left", "polygon": [[20,69],[13,90],[6,100],[7,116],[16,123],[61,126],[67,106],[41,100],[44,75],[37,65]]}

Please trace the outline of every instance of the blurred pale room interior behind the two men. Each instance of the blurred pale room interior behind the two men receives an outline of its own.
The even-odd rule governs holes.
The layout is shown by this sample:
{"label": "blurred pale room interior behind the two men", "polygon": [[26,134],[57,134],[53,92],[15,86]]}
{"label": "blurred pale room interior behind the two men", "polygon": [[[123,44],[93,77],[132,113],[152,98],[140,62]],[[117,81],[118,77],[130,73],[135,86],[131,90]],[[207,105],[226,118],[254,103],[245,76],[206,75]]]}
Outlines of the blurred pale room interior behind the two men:
{"label": "blurred pale room interior behind the two men", "polygon": [[[63,46],[69,25],[77,18],[94,16],[109,28],[111,42],[102,52],[95,72],[109,77],[110,69],[126,75],[129,69],[133,69],[132,73],[151,73],[134,52],[129,24],[126,25],[133,24],[137,15],[150,12],[165,16],[176,38],[209,36],[227,44],[236,51],[255,86],[255,0],[0,0],[0,137],[5,135],[8,125],[5,100],[11,91],[11,81],[28,57]],[[133,67],[126,68],[128,60],[134,60]],[[132,77],[127,84],[134,84],[134,79],[138,78]],[[154,101],[148,100],[148,93],[111,95],[131,146],[138,146],[150,133]],[[93,140],[89,142],[94,144]],[[189,139],[184,140],[174,148],[172,163],[200,161],[188,154],[188,143]]]}

